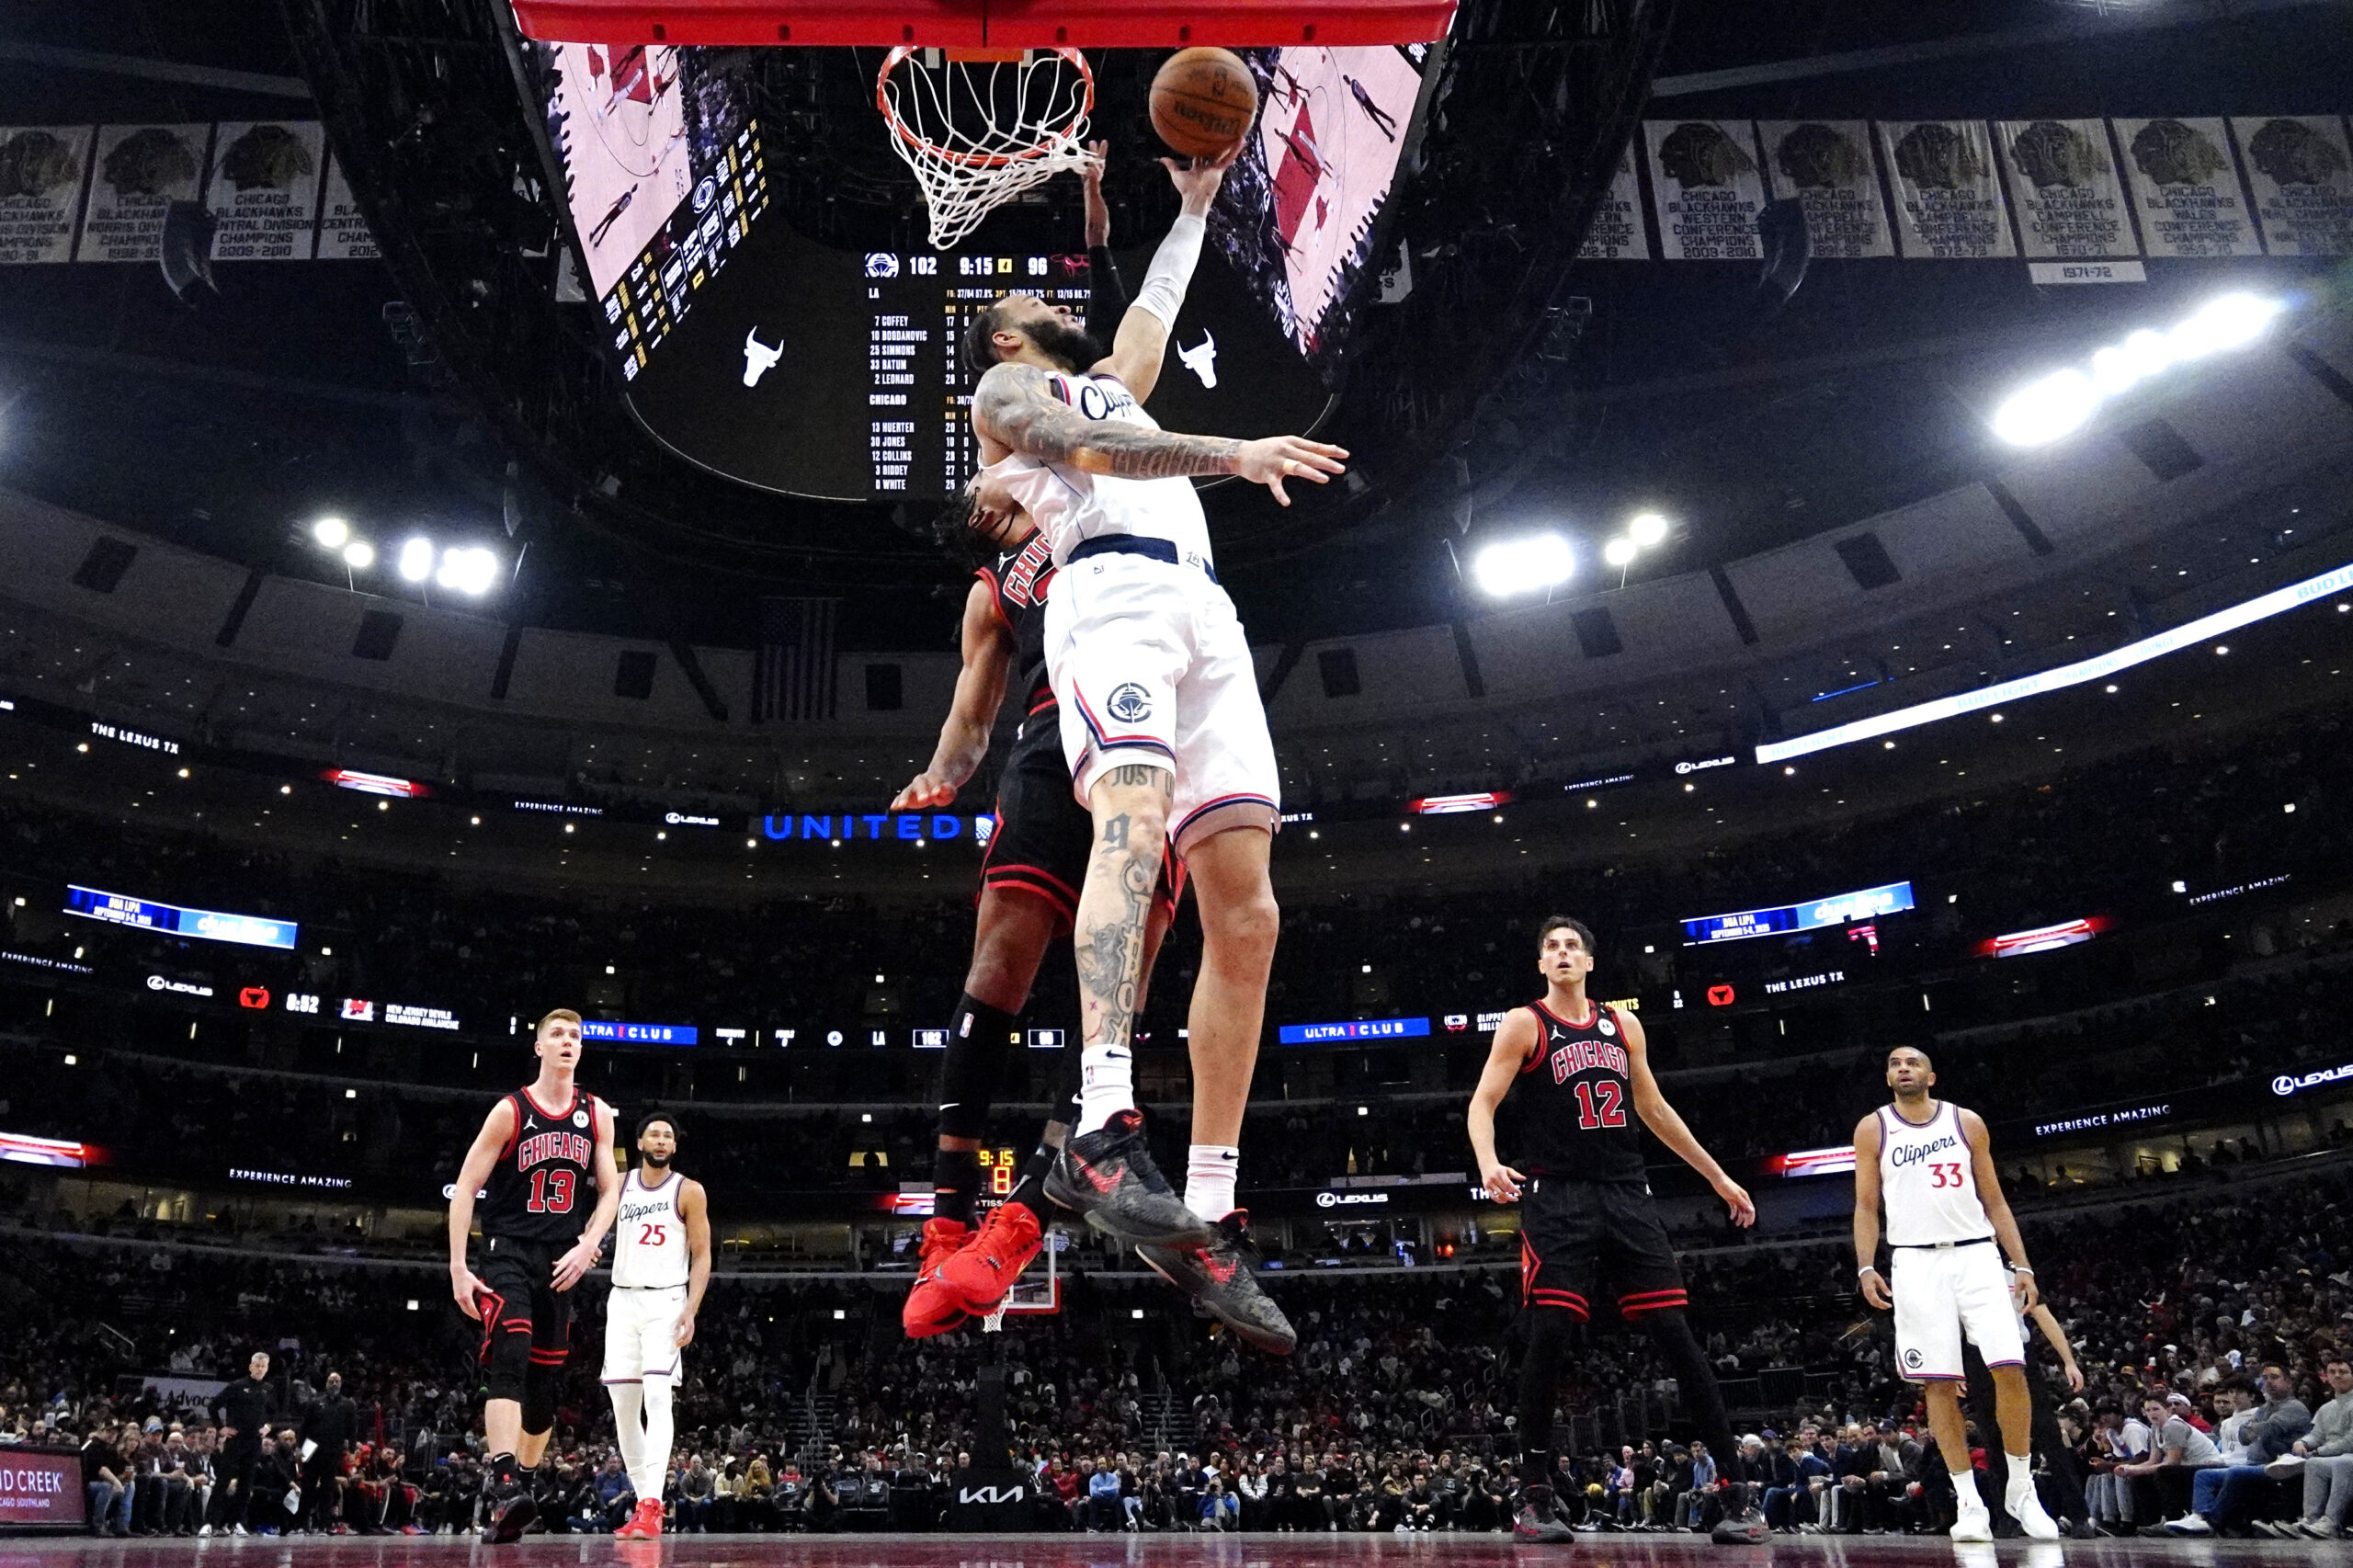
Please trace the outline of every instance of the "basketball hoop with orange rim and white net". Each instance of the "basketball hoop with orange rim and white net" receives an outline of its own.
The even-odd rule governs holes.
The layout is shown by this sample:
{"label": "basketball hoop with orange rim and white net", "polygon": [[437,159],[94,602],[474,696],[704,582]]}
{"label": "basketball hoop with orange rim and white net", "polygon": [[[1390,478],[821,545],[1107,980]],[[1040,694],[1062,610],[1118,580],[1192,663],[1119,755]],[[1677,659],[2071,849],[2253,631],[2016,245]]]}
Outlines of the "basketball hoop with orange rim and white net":
{"label": "basketball hoop with orange rim and white net", "polygon": [[901,45],[882,59],[875,108],[922,186],[932,250],[953,247],[1024,191],[1087,167],[1094,71],[1078,49],[915,54]]}

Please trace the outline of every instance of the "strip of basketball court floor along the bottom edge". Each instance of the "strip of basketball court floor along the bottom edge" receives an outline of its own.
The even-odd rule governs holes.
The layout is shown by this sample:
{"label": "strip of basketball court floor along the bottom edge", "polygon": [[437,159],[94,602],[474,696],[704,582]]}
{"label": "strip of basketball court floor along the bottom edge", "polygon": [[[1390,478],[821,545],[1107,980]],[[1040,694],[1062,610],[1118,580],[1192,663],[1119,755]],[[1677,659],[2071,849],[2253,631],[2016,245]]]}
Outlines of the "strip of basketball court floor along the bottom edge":
{"label": "strip of basketball court floor along the bottom edge", "polygon": [[82,1535],[0,1542],[0,1568],[35,1563],[200,1563],[205,1568],[393,1568],[393,1563],[619,1563],[621,1568],[1534,1568],[1544,1561],[1591,1568],[2134,1568],[2179,1563],[2344,1561],[2341,1542],[2271,1540],[2087,1540],[1955,1547],[1932,1535],[1786,1535],[1765,1547],[1713,1547],[1701,1535],[1581,1535],[1567,1547],[1515,1547],[1508,1535],[671,1535],[614,1542],[595,1535],[534,1535],[515,1547],[454,1537],[329,1540],[92,1540]]}

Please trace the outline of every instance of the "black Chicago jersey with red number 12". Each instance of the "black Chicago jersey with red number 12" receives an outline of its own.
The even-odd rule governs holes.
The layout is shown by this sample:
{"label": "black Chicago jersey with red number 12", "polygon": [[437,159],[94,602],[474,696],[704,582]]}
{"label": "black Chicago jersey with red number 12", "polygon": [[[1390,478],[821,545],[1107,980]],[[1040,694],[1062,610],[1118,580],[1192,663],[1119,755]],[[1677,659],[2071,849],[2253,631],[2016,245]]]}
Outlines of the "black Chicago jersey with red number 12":
{"label": "black Chicago jersey with red number 12", "polygon": [[1614,1008],[1586,1003],[1572,1024],[1529,1003],[1544,1043],[1511,1085],[1518,1116],[1511,1163],[1569,1182],[1640,1182],[1642,1132],[1633,1116],[1633,1062]]}

